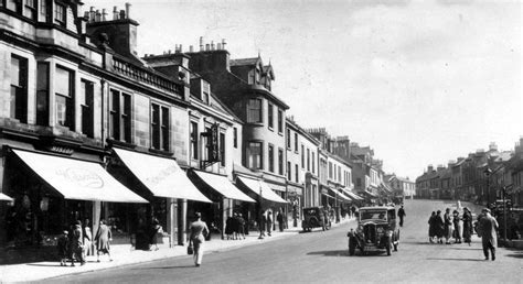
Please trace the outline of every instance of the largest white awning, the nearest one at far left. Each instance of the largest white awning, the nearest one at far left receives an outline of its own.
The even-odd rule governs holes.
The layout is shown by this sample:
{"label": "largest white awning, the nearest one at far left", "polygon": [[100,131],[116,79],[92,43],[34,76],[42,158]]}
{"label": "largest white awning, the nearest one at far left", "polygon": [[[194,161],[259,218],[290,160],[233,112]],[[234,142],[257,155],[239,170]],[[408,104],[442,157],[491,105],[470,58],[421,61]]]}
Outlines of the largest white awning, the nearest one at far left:
{"label": "largest white awning, the nearest one at far left", "polygon": [[36,175],[65,199],[147,203],[107,173],[100,164],[13,150]]}

